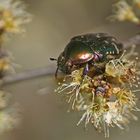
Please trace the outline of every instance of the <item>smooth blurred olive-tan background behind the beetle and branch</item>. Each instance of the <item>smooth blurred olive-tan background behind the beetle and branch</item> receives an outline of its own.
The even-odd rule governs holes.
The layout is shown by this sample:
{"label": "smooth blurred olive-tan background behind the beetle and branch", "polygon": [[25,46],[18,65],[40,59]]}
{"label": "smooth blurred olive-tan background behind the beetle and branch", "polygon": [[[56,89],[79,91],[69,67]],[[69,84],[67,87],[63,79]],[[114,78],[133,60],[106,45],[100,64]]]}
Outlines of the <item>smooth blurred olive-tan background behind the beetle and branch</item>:
{"label": "smooth blurred olive-tan background behind the beetle and branch", "polygon": [[[12,36],[6,46],[18,72],[56,65],[50,57],[58,57],[70,38],[89,32],[107,32],[119,40],[126,40],[140,27],[128,22],[110,22],[115,0],[24,0],[33,21],[22,36]],[[44,93],[39,90],[46,87]],[[76,126],[80,113],[67,112],[65,100],[54,93],[54,76],[40,77],[4,87],[22,109],[21,125],[0,136],[1,140],[103,140],[92,126]],[[137,113],[140,117],[140,114]],[[130,123],[129,131],[117,127],[110,130],[110,140],[139,140],[140,120]]]}

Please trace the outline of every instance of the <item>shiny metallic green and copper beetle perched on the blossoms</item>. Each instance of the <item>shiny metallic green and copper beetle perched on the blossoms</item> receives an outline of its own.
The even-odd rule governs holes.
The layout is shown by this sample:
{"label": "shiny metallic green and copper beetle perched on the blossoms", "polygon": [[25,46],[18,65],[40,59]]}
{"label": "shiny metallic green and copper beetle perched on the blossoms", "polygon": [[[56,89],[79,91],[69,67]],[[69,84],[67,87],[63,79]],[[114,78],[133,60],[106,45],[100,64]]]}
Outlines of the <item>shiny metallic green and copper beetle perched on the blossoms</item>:
{"label": "shiny metallic green and copper beetle perched on the blossoms", "polygon": [[91,67],[103,72],[104,65],[119,58],[122,53],[123,45],[115,37],[106,33],[89,33],[73,37],[58,59],[50,60],[57,61],[56,77],[58,70],[70,74],[82,67],[83,75],[86,75]]}

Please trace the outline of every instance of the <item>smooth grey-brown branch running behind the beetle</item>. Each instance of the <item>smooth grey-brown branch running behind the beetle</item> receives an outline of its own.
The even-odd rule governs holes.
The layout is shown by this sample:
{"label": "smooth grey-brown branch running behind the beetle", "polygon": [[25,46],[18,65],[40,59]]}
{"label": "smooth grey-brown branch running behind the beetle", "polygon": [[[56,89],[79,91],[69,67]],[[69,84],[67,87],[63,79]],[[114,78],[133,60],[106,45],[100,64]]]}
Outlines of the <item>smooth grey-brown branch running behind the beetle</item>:
{"label": "smooth grey-brown branch running behind the beetle", "polygon": [[[136,35],[128,39],[127,41],[124,41],[123,44],[125,49],[131,47],[134,44],[140,45],[140,35]],[[27,79],[40,77],[40,76],[54,75],[55,70],[56,70],[56,65],[55,66],[52,65],[44,68],[37,68],[37,69],[28,70],[13,75],[8,75],[1,80],[1,85],[7,85],[7,84],[27,80]]]}

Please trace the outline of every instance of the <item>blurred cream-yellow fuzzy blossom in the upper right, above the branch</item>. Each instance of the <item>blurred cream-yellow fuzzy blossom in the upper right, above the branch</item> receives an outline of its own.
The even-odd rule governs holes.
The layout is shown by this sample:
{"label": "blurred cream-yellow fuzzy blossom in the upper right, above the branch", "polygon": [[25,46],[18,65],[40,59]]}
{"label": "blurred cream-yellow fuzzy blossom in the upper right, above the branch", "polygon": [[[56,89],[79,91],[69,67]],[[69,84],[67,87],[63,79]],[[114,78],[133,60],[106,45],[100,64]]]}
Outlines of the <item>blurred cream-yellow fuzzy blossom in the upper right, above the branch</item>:
{"label": "blurred cream-yellow fuzzy blossom in the upper right, above the branch", "polygon": [[133,8],[124,0],[120,0],[114,5],[113,13],[114,15],[110,17],[111,20],[131,21],[136,24],[140,23]]}

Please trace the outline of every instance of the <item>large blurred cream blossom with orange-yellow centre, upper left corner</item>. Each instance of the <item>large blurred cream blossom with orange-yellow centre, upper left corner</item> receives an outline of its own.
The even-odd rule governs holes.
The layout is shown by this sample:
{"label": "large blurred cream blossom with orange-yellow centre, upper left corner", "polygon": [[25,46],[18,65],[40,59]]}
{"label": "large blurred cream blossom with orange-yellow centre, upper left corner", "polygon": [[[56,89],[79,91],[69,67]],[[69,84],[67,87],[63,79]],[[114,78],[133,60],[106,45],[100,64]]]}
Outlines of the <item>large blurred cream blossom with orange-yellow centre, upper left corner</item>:
{"label": "large blurred cream blossom with orange-yellow centre, upper left corner", "polygon": [[30,21],[26,6],[19,0],[0,0],[1,32],[17,33],[23,31],[22,25]]}

